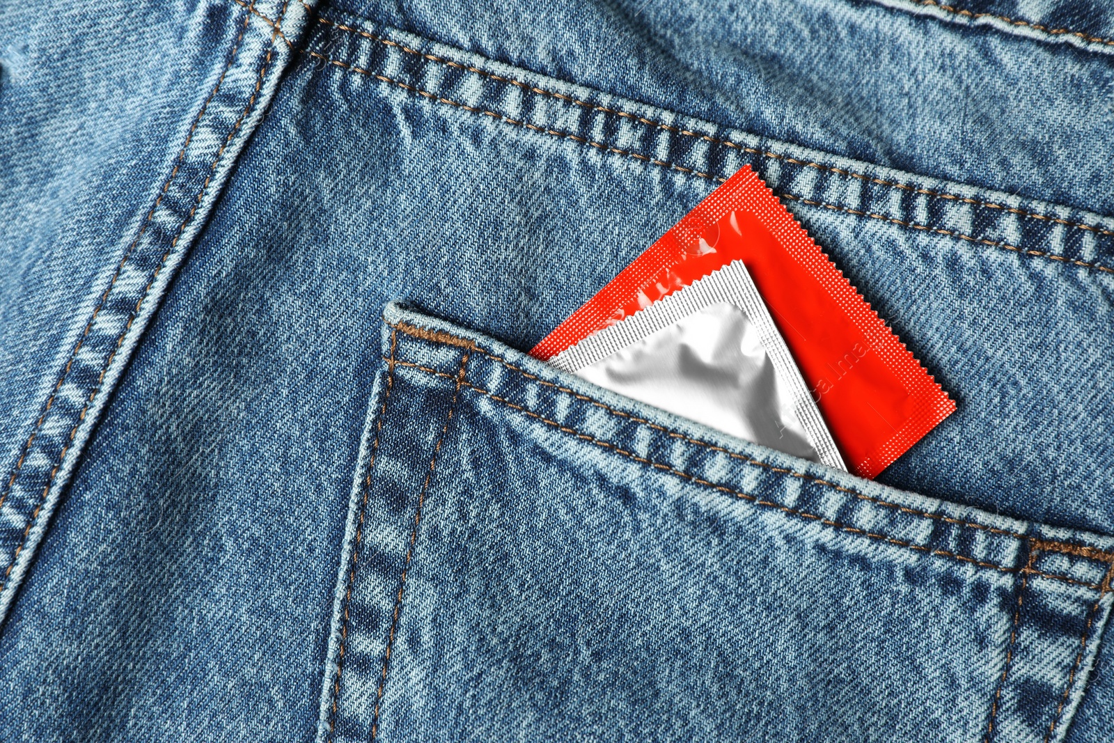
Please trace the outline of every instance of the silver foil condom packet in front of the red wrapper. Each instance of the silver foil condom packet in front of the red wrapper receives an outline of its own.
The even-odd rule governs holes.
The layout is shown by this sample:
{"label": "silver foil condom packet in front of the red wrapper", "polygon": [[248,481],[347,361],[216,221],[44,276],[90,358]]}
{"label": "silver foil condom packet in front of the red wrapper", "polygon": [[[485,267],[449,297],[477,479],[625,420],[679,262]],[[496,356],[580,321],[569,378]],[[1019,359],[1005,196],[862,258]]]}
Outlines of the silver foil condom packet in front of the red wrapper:
{"label": "silver foil condom packet in front of the red wrapper", "polygon": [[742,261],[589,335],[549,363],[725,433],[847,469]]}

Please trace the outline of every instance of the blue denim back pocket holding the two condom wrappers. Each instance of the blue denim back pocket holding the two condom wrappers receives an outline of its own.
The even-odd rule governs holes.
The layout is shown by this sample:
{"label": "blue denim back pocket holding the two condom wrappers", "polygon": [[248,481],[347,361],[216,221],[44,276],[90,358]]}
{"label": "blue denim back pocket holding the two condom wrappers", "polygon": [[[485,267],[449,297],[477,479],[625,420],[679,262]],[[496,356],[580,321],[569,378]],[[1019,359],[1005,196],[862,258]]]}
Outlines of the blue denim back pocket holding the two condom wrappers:
{"label": "blue denim back pocket holding the two condom wrappers", "polygon": [[331,741],[1055,741],[1114,540],[733,439],[389,305]]}

